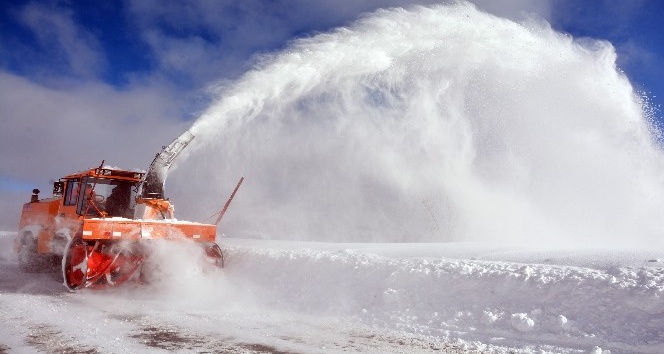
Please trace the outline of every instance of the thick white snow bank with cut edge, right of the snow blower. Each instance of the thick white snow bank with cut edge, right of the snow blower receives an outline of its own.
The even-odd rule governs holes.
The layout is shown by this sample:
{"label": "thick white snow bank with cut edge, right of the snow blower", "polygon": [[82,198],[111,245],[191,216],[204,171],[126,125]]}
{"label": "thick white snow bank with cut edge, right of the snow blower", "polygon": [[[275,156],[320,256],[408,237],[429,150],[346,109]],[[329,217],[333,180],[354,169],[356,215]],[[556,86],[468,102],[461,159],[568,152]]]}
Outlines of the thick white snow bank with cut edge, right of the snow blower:
{"label": "thick white snow bank with cut edge, right of the snow blower", "polygon": [[[227,243],[229,281],[250,284],[262,306],[476,349],[660,353],[664,345],[663,252]],[[470,254],[476,259],[453,258]]]}

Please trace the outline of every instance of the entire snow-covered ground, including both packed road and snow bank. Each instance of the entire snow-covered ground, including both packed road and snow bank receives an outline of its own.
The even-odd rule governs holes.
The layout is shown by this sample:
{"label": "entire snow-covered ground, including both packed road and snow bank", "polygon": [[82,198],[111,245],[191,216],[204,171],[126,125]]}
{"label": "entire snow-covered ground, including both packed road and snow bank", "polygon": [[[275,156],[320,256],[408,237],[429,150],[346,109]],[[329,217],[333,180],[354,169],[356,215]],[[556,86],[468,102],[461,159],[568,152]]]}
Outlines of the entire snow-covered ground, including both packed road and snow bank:
{"label": "entire snow-covered ground, including both packed road and snow bank", "polygon": [[162,243],[150,285],[69,293],[0,235],[0,352],[664,352],[664,251]]}

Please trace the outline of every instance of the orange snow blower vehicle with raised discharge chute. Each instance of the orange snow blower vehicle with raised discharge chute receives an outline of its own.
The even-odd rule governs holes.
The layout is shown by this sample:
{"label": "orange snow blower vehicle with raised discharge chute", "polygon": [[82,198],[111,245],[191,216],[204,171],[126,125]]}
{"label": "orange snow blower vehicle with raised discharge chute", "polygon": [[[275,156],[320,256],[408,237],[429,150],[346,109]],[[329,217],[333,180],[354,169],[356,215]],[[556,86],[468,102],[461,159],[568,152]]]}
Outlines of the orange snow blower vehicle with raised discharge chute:
{"label": "orange snow blower vehicle with raised discharge chute", "polygon": [[39,190],[33,190],[14,244],[20,268],[36,272],[60,263],[70,290],[141,281],[151,239],[194,241],[207,263],[223,267],[224,254],[215,242],[219,219],[216,224],[178,221],[164,197],[168,169],[193,139],[187,131],[164,147],[147,173],[102,162],[55,182],[52,198],[40,200]]}

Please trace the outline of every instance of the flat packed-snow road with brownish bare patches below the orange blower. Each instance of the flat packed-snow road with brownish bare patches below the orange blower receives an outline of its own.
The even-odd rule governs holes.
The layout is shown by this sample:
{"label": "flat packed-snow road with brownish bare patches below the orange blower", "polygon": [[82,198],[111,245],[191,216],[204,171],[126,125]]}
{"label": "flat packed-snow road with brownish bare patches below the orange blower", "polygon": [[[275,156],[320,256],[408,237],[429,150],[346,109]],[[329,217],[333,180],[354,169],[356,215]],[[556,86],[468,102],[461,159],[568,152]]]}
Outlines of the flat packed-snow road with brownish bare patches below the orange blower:
{"label": "flat packed-snow road with brownish bare patches below the orange blower", "polygon": [[435,341],[332,318],[258,312],[224,301],[188,303],[144,289],[71,294],[53,275],[7,281],[5,272],[12,271],[18,269],[3,262],[3,353],[390,353],[443,348]]}

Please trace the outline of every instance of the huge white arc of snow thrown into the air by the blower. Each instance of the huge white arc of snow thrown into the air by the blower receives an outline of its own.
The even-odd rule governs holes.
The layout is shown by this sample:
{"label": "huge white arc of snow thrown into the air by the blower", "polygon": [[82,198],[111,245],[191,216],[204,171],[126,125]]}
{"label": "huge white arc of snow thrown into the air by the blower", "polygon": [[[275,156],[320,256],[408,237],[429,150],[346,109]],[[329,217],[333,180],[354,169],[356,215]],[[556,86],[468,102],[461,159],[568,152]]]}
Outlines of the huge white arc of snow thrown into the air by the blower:
{"label": "huge white arc of snow thrown into the air by the blower", "polygon": [[466,3],[379,10],[220,85],[170,191],[202,216],[245,176],[236,237],[661,246],[664,159],[615,60]]}

